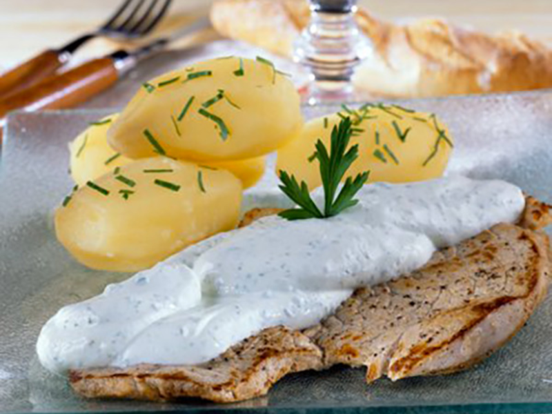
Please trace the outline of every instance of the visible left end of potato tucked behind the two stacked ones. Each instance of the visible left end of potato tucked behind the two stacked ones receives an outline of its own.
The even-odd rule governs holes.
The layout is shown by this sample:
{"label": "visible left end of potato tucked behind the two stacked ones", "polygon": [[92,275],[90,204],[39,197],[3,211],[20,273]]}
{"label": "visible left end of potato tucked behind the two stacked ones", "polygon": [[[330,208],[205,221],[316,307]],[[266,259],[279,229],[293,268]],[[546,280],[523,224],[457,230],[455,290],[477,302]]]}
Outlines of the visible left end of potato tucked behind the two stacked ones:
{"label": "visible left end of potato tucked behind the two stacked ones", "polygon": [[92,124],[69,144],[71,177],[79,186],[96,179],[129,160],[107,143],[107,132],[119,114],[109,115]]}

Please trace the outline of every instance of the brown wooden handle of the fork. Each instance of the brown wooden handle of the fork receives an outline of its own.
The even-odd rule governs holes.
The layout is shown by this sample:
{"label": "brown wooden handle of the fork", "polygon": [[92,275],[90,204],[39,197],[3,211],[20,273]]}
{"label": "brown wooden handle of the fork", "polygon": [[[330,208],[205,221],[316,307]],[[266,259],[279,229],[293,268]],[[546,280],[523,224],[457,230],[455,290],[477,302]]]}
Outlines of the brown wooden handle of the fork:
{"label": "brown wooden handle of the fork", "polygon": [[0,99],[53,75],[65,61],[66,55],[56,50],[45,50],[40,55],[4,72],[0,75]]}

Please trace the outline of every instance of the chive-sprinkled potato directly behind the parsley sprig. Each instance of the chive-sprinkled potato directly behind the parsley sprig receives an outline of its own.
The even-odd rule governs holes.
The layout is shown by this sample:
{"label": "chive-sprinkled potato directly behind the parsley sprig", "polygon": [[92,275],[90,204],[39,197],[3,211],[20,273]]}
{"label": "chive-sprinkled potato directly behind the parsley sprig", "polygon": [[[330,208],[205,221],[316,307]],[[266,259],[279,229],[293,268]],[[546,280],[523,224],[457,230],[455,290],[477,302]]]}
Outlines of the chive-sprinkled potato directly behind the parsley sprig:
{"label": "chive-sprinkled potato directly behind the parsley sprig", "polygon": [[[359,156],[344,179],[366,170],[370,171],[370,182],[404,183],[442,175],[453,141],[446,126],[434,115],[382,104],[363,108],[340,112],[341,117],[350,116],[353,128],[357,128],[349,145],[358,144],[359,148]],[[299,138],[278,150],[276,170],[306,181],[311,190],[320,186],[319,163],[311,156],[318,139],[329,150],[331,130],[341,117],[328,115],[305,124]]]}

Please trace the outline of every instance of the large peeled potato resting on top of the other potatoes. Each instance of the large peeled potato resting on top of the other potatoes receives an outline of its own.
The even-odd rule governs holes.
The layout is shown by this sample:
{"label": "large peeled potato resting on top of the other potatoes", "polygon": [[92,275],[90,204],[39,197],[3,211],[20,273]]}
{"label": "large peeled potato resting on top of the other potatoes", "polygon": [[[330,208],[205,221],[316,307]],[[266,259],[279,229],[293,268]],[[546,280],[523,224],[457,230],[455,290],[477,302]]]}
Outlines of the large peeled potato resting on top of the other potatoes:
{"label": "large peeled potato resting on top of the other potatoes", "polygon": [[268,61],[228,57],[167,73],[140,88],[108,131],[136,159],[193,161],[265,155],[302,127],[299,94]]}

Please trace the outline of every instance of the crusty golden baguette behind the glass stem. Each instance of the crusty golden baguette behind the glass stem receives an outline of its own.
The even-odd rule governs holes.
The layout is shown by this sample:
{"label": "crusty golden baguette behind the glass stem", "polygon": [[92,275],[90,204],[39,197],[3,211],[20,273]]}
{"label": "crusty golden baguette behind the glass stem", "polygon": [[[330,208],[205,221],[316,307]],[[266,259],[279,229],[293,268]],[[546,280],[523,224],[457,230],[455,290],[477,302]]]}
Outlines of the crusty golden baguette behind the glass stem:
{"label": "crusty golden baguette behind the glass stem", "polygon": [[[227,37],[290,57],[308,14],[304,0],[219,0],[211,20]],[[518,32],[491,36],[439,19],[400,26],[362,9],[357,23],[374,53],[358,68],[355,86],[373,95],[429,97],[552,86],[552,50]]]}

